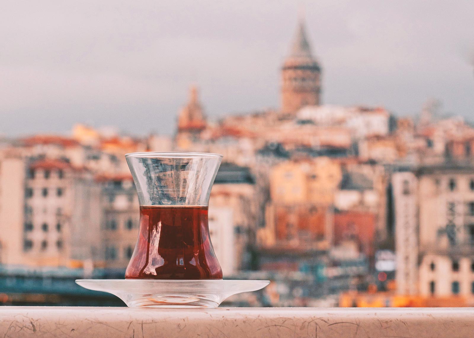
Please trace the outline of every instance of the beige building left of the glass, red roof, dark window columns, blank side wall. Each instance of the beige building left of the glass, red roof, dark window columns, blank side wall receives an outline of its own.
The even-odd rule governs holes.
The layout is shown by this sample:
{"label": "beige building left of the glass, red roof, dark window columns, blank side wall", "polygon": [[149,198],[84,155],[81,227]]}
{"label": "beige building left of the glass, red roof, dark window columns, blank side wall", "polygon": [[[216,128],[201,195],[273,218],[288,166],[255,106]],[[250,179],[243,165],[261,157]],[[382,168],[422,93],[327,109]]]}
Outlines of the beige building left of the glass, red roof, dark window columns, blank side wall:
{"label": "beige building left of the glass, red roof, dark window columns, blank side wall", "polygon": [[34,160],[24,189],[23,264],[80,267],[99,259],[100,189],[88,171]]}

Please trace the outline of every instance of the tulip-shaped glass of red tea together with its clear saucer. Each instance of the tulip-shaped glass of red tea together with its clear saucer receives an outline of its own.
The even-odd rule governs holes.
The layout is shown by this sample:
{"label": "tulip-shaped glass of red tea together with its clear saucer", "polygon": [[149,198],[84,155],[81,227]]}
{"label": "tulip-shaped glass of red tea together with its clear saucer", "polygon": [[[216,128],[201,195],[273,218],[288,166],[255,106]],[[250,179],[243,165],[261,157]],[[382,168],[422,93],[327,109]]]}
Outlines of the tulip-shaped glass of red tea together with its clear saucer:
{"label": "tulip-shaped glass of red tea together with its clear saucer", "polygon": [[270,283],[222,280],[208,224],[210,190],[222,155],[125,156],[140,202],[140,229],[126,279],[76,283],[113,293],[129,307],[151,308],[215,308],[233,294]]}

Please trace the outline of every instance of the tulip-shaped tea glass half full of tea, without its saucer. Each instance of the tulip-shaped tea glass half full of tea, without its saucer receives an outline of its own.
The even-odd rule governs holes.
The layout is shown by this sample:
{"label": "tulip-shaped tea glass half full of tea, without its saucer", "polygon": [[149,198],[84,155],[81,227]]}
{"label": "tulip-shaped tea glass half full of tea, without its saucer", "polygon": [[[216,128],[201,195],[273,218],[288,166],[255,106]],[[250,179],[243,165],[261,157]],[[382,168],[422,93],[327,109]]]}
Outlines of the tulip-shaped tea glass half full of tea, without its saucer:
{"label": "tulip-shaped tea glass half full of tea, without its saucer", "polygon": [[222,155],[126,155],[140,202],[140,230],[125,278],[222,279],[208,205]]}

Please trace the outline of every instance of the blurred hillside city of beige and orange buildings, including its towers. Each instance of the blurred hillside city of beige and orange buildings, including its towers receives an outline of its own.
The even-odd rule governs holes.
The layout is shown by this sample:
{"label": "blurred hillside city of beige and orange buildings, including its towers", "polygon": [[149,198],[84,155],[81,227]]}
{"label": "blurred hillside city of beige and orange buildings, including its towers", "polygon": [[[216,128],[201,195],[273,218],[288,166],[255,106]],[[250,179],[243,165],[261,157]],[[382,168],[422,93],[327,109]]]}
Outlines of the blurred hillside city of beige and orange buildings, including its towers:
{"label": "blurred hillside city of beige and orange buildings, including its towers", "polygon": [[301,21],[278,110],[211,121],[192,86],[173,137],[0,139],[0,304],[123,306],[74,280],[124,278],[139,225],[124,155],[198,151],[224,155],[209,208],[224,278],[272,281],[225,305],[473,306],[474,128],[437,100],[416,118],[323,104],[321,68]]}

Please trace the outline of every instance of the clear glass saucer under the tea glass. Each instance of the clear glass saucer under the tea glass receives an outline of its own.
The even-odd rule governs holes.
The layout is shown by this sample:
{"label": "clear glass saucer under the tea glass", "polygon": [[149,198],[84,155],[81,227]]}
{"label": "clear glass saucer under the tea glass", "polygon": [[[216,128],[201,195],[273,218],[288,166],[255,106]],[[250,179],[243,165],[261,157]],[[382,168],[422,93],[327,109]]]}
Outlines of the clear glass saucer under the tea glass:
{"label": "clear glass saucer under the tea glass", "polygon": [[130,308],[217,308],[229,296],[263,289],[270,281],[77,279],[76,283],[112,293]]}

